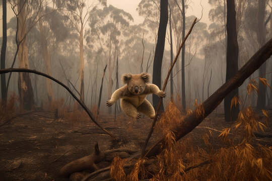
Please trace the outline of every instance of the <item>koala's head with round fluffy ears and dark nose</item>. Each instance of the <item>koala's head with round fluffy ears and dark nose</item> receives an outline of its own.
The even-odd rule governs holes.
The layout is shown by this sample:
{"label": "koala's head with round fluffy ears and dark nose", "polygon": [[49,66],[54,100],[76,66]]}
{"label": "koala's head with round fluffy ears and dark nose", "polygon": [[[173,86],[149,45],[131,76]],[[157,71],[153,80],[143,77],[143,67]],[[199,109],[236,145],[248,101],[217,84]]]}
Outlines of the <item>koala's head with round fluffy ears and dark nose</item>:
{"label": "koala's head with round fluffy ears and dark nose", "polygon": [[123,83],[127,84],[127,88],[130,93],[134,95],[140,95],[144,92],[146,88],[146,83],[150,80],[149,73],[141,73],[141,74],[131,74],[124,73],[122,74]]}

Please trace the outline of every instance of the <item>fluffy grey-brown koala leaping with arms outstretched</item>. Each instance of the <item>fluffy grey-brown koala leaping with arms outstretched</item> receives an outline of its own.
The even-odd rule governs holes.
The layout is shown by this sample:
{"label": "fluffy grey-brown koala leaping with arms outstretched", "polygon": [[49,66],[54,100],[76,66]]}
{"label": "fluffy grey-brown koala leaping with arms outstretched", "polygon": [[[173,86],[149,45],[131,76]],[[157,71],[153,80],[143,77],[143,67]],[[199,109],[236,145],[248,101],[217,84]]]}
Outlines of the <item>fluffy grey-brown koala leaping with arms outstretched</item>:
{"label": "fluffy grey-brown koala leaping with arms outstretched", "polygon": [[146,99],[148,94],[155,94],[165,98],[166,94],[159,87],[150,81],[149,73],[131,74],[125,73],[121,79],[125,85],[117,89],[107,101],[108,107],[121,99],[121,108],[125,115],[140,119],[139,112],[144,113],[149,118],[155,117],[155,110],[151,103]]}

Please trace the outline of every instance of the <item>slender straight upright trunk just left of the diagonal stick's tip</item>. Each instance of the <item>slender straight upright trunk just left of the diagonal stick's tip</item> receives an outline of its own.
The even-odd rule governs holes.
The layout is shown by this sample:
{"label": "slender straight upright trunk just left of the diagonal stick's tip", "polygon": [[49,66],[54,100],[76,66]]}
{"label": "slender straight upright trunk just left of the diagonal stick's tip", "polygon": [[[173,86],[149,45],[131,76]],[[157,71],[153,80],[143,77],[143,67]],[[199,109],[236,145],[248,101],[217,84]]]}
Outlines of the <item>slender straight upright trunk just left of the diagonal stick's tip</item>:
{"label": "slender straight upright trunk just left of the diagonal stick's tip", "polygon": [[[184,0],[182,0],[182,40],[185,36],[185,4]],[[185,101],[185,44],[182,47],[181,52],[181,102],[183,111],[186,109],[186,101]]]}

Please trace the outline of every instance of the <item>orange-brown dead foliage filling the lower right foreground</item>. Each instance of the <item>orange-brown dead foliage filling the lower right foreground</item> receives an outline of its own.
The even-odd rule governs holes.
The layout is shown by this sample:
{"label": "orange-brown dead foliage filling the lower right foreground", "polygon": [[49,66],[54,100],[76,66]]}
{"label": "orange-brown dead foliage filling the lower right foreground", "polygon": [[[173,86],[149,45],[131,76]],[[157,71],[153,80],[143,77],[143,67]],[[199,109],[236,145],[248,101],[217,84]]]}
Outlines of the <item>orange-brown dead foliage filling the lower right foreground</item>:
{"label": "orange-brown dead foliage filling the lower right foreground", "polygon": [[[232,101],[232,106],[236,104],[241,104],[238,98]],[[195,101],[195,107],[201,116],[201,104]],[[268,118],[265,110],[262,113]],[[210,142],[212,131],[202,136],[208,147],[206,150],[195,148],[190,137],[184,137],[176,143],[174,133],[170,130],[182,121],[183,116],[178,106],[171,101],[156,125],[155,131],[166,138],[166,146],[153,161],[155,171],[150,169],[150,165],[145,165],[146,160],[141,158],[126,176],[122,172],[122,178],[116,177],[120,173],[115,165],[115,171],[111,172],[114,180],[272,180],[272,147],[252,144],[254,132],[264,131],[265,128],[265,123],[262,123],[263,120],[252,107],[242,110],[231,128],[222,130],[220,137],[223,147],[217,150],[213,149]],[[235,137],[229,138],[230,134]],[[122,163],[119,158],[118,163]]]}

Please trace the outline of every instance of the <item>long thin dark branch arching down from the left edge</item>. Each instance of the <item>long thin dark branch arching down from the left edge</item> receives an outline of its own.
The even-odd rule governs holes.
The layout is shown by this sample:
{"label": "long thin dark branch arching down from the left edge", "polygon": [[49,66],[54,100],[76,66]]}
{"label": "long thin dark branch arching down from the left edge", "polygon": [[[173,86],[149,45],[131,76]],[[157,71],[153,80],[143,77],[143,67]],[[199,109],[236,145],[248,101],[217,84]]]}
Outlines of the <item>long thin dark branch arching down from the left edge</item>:
{"label": "long thin dark branch arching down from the left edge", "polygon": [[47,77],[51,80],[53,80],[54,82],[60,84],[61,86],[63,86],[72,96],[73,98],[75,98],[75,100],[82,106],[82,108],[86,111],[86,113],[89,115],[89,117],[91,118],[91,120],[100,128],[102,129],[104,132],[106,132],[108,135],[110,135],[112,137],[112,139],[116,140],[116,138],[107,130],[105,130],[102,126],[100,126],[96,120],[93,117],[93,114],[91,113],[91,111],[86,107],[86,105],[84,103],[82,103],[75,95],[74,93],[66,86],[64,85],[62,82],[60,82],[59,80],[55,79],[54,77],[47,75],[45,73],[39,72],[37,70],[31,70],[31,69],[27,69],[27,68],[5,68],[5,69],[0,69],[0,74],[2,73],[9,73],[9,72],[28,72],[28,73],[35,73],[37,75],[41,75],[44,77]]}

